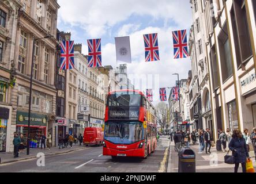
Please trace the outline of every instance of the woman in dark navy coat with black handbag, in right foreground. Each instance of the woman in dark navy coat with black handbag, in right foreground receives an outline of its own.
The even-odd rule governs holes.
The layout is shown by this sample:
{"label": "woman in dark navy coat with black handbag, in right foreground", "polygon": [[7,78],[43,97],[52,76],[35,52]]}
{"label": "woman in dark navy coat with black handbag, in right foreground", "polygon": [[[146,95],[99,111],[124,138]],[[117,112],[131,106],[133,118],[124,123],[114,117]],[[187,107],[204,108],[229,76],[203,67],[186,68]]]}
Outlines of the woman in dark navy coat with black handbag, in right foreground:
{"label": "woman in dark navy coat with black handbag, in right foreground", "polygon": [[247,159],[250,160],[250,157],[246,146],[246,140],[243,138],[241,131],[233,131],[232,139],[229,143],[229,149],[235,157],[235,173],[238,173],[240,163],[242,164],[243,173],[246,173],[246,161]]}

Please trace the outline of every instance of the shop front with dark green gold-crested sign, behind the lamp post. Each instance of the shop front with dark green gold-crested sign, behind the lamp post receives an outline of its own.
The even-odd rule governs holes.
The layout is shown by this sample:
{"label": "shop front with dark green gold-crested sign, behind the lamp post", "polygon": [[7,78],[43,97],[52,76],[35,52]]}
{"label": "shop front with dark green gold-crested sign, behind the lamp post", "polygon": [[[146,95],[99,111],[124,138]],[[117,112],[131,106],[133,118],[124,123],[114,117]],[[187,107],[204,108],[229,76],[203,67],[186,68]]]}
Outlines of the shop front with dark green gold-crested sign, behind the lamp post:
{"label": "shop front with dark green gold-crested sign, behind the lamp post", "polygon": [[[42,134],[46,135],[47,128],[47,116],[43,114],[31,113],[31,124],[29,136],[32,141],[39,145],[40,136]],[[28,137],[28,113],[17,111],[16,120],[16,132],[22,133],[24,135],[25,145],[27,145]]]}

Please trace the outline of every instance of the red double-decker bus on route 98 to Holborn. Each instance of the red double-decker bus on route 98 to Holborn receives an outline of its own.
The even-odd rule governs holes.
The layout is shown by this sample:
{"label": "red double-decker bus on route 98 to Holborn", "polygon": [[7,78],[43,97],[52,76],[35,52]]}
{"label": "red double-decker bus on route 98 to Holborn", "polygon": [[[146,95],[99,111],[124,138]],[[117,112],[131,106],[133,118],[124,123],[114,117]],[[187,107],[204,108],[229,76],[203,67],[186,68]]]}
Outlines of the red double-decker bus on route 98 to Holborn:
{"label": "red double-decker bus on route 98 to Holborn", "polygon": [[156,110],[141,91],[108,94],[103,155],[147,158],[157,147]]}

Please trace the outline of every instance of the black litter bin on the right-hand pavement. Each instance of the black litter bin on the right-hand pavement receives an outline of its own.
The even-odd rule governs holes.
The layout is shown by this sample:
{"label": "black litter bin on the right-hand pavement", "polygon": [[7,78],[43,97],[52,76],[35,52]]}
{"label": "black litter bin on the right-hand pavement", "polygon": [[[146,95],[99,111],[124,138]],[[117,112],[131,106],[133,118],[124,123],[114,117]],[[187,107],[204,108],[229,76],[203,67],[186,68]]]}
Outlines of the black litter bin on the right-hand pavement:
{"label": "black litter bin on the right-hand pavement", "polygon": [[190,148],[179,152],[179,173],[195,173],[195,152]]}

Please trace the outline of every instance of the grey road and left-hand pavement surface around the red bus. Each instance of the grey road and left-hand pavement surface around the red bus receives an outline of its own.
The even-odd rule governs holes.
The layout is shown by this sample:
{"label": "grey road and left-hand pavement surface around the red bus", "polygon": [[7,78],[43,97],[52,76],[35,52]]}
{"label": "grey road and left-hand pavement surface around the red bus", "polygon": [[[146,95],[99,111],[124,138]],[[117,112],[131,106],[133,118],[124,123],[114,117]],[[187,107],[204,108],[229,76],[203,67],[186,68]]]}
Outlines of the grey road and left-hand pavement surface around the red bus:
{"label": "grey road and left-hand pavement surface around the red bus", "polygon": [[[102,147],[75,146],[58,150],[52,148],[45,150],[45,166],[39,167],[40,159],[35,158],[41,150],[32,150],[34,158],[26,160],[13,160],[12,153],[3,157],[0,164],[0,173],[166,173],[170,141],[168,136],[161,136],[154,153],[147,159],[118,158],[112,160],[111,156],[103,156]],[[67,152],[71,151],[71,152]],[[44,152],[44,150],[43,150]],[[0,154],[2,155],[5,154]],[[31,156],[32,156],[31,155]],[[22,159],[26,155],[21,155]]]}

